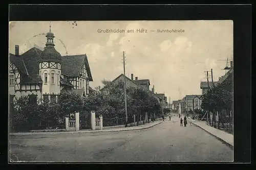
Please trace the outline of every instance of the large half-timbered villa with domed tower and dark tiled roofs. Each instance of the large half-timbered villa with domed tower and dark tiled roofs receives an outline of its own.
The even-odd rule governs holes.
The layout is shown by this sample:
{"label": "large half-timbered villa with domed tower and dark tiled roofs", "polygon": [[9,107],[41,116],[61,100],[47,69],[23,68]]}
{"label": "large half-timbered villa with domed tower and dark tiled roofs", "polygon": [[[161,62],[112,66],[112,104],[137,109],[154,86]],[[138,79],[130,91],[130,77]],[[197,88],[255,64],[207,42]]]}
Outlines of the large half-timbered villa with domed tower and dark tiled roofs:
{"label": "large half-timbered villa with domed tower and dark tiled roofs", "polygon": [[[9,54],[9,94],[13,97],[28,95],[31,102],[57,100],[62,90],[74,90],[89,95],[93,81],[86,54],[61,56],[54,48],[54,34],[47,33],[44,50],[33,47],[19,55]],[[39,100],[40,101],[40,100]]]}

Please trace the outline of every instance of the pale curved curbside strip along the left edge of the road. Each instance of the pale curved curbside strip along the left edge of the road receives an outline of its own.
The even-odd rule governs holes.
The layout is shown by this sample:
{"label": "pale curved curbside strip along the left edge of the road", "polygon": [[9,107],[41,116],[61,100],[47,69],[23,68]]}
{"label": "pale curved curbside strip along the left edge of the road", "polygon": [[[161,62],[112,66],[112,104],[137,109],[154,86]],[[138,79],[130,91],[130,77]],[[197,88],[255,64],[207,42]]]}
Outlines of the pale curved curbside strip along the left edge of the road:
{"label": "pale curved curbside strip along the left edge of the road", "polygon": [[37,132],[37,133],[28,133],[28,134],[10,134],[10,136],[21,136],[21,135],[33,135],[33,134],[66,134],[66,133],[71,133],[71,134],[75,134],[75,133],[99,133],[99,132],[121,132],[121,131],[135,131],[135,130],[142,130],[142,129],[148,129],[148,128],[152,128],[156,125],[159,125],[161,124],[162,122],[159,122],[155,125],[152,125],[152,126],[149,126],[149,127],[142,127],[142,128],[138,128],[138,129],[123,129],[123,130],[105,130],[105,131],[102,131],[102,130],[98,130],[98,131],[93,131],[93,130],[90,130],[90,131],[65,131],[65,132]]}

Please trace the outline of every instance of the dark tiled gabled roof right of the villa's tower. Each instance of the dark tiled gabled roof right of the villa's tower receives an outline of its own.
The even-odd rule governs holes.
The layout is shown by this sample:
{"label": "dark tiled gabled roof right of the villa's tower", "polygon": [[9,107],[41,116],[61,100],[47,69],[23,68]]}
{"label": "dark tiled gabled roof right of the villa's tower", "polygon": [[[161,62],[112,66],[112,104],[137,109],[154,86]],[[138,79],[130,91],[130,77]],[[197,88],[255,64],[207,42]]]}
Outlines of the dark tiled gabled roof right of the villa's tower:
{"label": "dark tiled gabled roof right of the villa's tower", "polygon": [[80,74],[80,70],[83,66],[83,63],[85,63],[89,81],[93,81],[89,62],[85,54],[62,56],[61,59],[62,59],[61,73],[63,75],[66,75],[68,77],[78,77]]}

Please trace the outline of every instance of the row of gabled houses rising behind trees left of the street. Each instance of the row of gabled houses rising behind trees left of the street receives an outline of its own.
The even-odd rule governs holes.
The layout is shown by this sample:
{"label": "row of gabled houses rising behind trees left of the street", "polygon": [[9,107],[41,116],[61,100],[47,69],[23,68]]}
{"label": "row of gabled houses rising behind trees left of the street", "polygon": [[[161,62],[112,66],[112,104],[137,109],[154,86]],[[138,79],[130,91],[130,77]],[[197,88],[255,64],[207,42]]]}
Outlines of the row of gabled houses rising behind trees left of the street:
{"label": "row of gabled houses rising behind trees left of the street", "polygon": [[[138,77],[135,77],[134,79],[134,74],[131,74],[131,78],[124,76],[124,74],[120,74],[117,78],[112,80],[112,83],[118,84],[119,82],[124,82],[124,80],[126,83],[126,87],[139,87],[147,91],[151,91],[152,94],[160,103],[160,105],[162,106],[162,113],[164,112],[164,108],[167,108],[167,96],[165,96],[164,93],[155,92],[155,85],[153,85],[152,89],[150,89],[151,84],[149,79],[138,79]],[[104,89],[105,87],[101,88],[100,91],[104,92]]]}

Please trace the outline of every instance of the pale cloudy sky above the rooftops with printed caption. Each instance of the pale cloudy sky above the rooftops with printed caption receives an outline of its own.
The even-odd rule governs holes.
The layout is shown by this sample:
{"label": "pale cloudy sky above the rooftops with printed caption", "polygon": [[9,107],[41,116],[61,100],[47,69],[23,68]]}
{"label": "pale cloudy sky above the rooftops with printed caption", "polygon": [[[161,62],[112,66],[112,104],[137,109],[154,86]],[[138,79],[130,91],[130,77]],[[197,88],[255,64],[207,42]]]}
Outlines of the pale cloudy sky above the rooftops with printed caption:
{"label": "pale cloudy sky above the rooftops with printed caption", "polygon": [[[12,21],[9,52],[15,53],[15,44],[20,54],[34,44],[44,47],[50,25],[61,55],[87,55],[91,87],[102,87],[101,80],[113,80],[123,73],[124,51],[125,75],[149,79],[150,89],[154,85],[155,92],[165,93],[171,103],[185,95],[201,94],[200,81],[207,81],[204,71],[210,75],[212,69],[218,81],[226,66],[226,61],[219,60],[233,59],[232,20]],[[103,32],[106,29],[124,32]],[[146,31],[137,33],[137,29]],[[166,29],[180,32],[157,31]]]}

